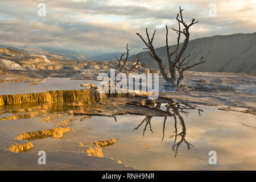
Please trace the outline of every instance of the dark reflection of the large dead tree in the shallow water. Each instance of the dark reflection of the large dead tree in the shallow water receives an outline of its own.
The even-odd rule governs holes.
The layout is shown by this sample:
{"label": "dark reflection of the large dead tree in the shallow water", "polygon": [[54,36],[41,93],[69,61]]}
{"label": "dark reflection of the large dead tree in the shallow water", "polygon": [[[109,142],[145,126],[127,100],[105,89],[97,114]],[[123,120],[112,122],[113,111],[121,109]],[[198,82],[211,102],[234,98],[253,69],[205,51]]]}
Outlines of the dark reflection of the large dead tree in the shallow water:
{"label": "dark reflection of the large dead tree in the shallow water", "polygon": [[[160,109],[161,108],[161,103],[158,103],[155,105],[156,109]],[[182,115],[180,113],[184,113],[185,115],[189,114],[189,110],[195,110],[197,109],[195,106],[189,105],[187,103],[184,102],[176,102],[174,104],[167,104],[166,105],[166,111],[172,114],[172,117],[174,117],[174,135],[172,135],[170,138],[174,138],[174,144],[172,145],[172,151],[174,152],[174,157],[176,157],[177,152],[179,150],[179,147],[181,146],[182,143],[185,143],[188,150],[191,149],[191,147],[194,147],[191,143],[189,143],[186,139],[186,126],[185,126],[185,121],[182,117]],[[201,115],[201,112],[203,112],[203,110],[201,109],[197,109],[199,112],[199,115]],[[146,118],[143,119],[143,121],[137,126],[135,127],[134,130],[138,130],[139,127],[141,127],[143,125],[143,123],[146,123],[144,126],[144,130],[143,130],[143,136],[145,134],[145,131],[147,130],[147,126],[149,125],[150,127],[150,131],[151,133],[153,133],[152,131],[152,127],[151,127],[151,119],[152,116],[146,116]],[[177,129],[177,120],[179,119],[180,121],[180,125],[182,127],[182,131],[180,133],[178,133],[178,129]],[[162,137],[162,141],[164,139],[164,135],[165,135],[165,129],[166,129],[166,121],[167,121],[167,117],[164,117],[164,121],[163,121],[163,137]],[[180,137],[180,140],[178,141],[178,138]]]}

